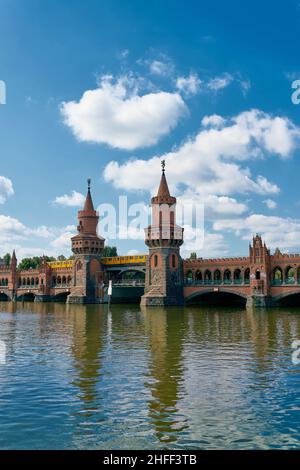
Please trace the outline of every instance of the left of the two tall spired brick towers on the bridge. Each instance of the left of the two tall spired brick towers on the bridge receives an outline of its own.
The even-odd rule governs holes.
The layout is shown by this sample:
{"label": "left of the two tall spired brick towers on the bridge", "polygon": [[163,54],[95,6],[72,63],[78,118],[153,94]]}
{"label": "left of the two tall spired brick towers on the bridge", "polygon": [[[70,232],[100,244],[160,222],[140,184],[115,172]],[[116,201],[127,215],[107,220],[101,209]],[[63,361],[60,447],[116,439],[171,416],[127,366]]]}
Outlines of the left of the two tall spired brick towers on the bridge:
{"label": "left of the two tall spired brick towers on the bridge", "polygon": [[94,209],[90,184],[89,179],[83,210],[78,211],[78,233],[71,238],[74,266],[69,303],[100,302],[103,281],[101,253],[105,240],[97,234],[99,214]]}

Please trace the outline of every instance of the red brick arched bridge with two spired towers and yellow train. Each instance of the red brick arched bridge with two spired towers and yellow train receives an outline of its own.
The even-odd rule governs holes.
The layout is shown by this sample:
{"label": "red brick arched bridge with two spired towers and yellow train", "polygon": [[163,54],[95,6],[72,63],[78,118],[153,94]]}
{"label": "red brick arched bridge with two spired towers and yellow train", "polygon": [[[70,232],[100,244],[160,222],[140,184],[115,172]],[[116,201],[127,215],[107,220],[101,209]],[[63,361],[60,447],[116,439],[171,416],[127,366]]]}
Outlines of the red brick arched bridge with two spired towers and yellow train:
{"label": "red brick arched bridge with two spired towers and yellow train", "polygon": [[148,255],[102,257],[105,240],[97,234],[99,214],[89,180],[77,235],[71,238],[74,259],[41,258],[38,269],[20,270],[14,251],[10,266],[0,266],[0,300],[105,303],[111,280],[111,301],[116,303],[300,305],[300,254],[281,253],[278,248],[270,254],[259,235],[253,237],[248,256],[181,258],[183,228],[176,224],[176,198],[170,195],[164,162],[151,203],[152,223],[145,229]]}

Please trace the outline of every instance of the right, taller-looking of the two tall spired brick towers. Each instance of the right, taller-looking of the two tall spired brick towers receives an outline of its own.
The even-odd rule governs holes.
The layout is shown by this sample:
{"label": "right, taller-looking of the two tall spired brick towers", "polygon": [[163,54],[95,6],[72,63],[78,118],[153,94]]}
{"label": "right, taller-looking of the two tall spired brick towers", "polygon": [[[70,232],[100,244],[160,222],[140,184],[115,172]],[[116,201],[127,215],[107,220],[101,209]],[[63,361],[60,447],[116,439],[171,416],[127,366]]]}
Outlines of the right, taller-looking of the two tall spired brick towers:
{"label": "right, taller-looking of the two tall spired brick towers", "polygon": [[183,305],[183,263],[180,246],[183,228],[176,225],[176,198],[169,192],[162,161],[162,175],[152,204],[152,224],[145,230],[149,247],[145,293],[141,305]]}

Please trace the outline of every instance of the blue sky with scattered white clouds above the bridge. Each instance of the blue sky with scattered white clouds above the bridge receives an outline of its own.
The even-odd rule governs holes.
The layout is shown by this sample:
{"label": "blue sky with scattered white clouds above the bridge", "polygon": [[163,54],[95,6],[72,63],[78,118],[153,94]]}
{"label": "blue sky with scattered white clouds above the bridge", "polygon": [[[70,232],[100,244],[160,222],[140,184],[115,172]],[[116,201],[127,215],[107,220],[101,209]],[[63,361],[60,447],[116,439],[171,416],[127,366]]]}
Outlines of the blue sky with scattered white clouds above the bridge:
{"label": "blue sky with scattered white clouds above the bridge", "polygon": [[257,231],[299,251],[298,3],[0,0],[0,255],[70,254],[86,179],[95,205],[146,204],[163,157],[205,206],[184,253],[246,254]]}

